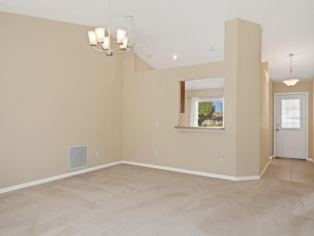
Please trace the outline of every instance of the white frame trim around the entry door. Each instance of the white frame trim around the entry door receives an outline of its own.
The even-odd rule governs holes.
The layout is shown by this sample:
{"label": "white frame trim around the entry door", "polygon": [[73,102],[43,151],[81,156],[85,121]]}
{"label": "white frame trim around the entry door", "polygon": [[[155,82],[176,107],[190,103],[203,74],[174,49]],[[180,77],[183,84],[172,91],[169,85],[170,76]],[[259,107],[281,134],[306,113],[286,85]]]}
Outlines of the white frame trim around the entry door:
{"label": "white frame trim around the entry door", "polygon": [[274,93],[274,121],[273,121],[273,132],[274,132],[274,157],[276,157],[276,101],[277,101],[277,95],[296,95],[296,94],[305,94],[306,95],[306,137],[305,137],[305,142],[306,142],[306,152],[305,152],[305,157],[306,160],[309,160],[309,92],[276,92]]}

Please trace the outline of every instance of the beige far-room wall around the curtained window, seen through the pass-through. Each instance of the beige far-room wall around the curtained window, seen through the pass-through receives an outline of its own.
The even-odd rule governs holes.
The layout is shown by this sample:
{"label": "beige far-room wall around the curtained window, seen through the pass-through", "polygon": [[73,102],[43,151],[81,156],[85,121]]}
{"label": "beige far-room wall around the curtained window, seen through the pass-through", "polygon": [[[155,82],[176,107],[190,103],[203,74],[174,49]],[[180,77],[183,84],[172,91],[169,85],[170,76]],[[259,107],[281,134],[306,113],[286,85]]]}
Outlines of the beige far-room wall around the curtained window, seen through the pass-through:
{"label": "beige far-room wall around the curtained window, seen through the pass-through", "polygon": [[190,126],[191,97],[223,96],[223,95],[224,88],[185,90],[184,113],[180,113],[180,126]]}

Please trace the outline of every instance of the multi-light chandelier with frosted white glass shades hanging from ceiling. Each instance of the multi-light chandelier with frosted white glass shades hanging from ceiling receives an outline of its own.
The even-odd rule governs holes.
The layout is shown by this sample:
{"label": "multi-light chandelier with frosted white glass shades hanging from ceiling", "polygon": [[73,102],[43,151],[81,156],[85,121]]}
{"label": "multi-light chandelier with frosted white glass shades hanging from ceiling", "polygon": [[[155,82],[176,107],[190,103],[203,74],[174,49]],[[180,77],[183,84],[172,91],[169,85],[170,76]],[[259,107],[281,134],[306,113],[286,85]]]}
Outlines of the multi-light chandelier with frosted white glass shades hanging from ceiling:
{"label": "multi-light chandelier with frosted white glass shades hanging from ceiling", "polygon": [[[108,13],[108,36],[105,36],[104,28],[96,28],[95,31],[88,31],[88,38],[90,46],[93,46],[95,50],[106,53],[107,56],[112,56],[113,53],[122,53],[127,48],[128,37],[126,37],[127,31],[124,29],[117,29],[117,41],[111,41],[110,34],[110,0],[109,0],[109,13]],[[101,49],[97,49],[97,43],[101,45]],[[117,48],[112,49],[111,43],[117,44]]]}

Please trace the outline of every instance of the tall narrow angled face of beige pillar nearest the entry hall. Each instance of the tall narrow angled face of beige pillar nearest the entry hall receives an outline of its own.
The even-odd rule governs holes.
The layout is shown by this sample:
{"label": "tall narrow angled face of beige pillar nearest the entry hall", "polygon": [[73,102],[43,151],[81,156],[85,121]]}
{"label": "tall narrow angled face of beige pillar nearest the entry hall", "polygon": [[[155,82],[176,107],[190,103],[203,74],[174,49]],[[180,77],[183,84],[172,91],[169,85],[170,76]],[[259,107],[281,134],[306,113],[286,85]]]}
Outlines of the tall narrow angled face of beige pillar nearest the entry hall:
{"label": "tall narrow angled face of beige pillar nearest the entry hall", "polygon": [[254,176],[260,173],[261,26],[240,22],[236,61],[236,175]]}

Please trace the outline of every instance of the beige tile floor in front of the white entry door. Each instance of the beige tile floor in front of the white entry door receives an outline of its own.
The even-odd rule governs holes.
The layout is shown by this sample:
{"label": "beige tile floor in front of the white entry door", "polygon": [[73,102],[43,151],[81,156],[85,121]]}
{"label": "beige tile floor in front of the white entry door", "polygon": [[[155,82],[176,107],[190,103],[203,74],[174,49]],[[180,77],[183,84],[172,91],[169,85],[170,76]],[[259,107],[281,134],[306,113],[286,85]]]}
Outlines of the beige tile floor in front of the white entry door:
{"label": "beige tile floor in front of the white entry door", "polygon": [[311,161],[273,158],[262,176],[314,185],[314,165]]}

